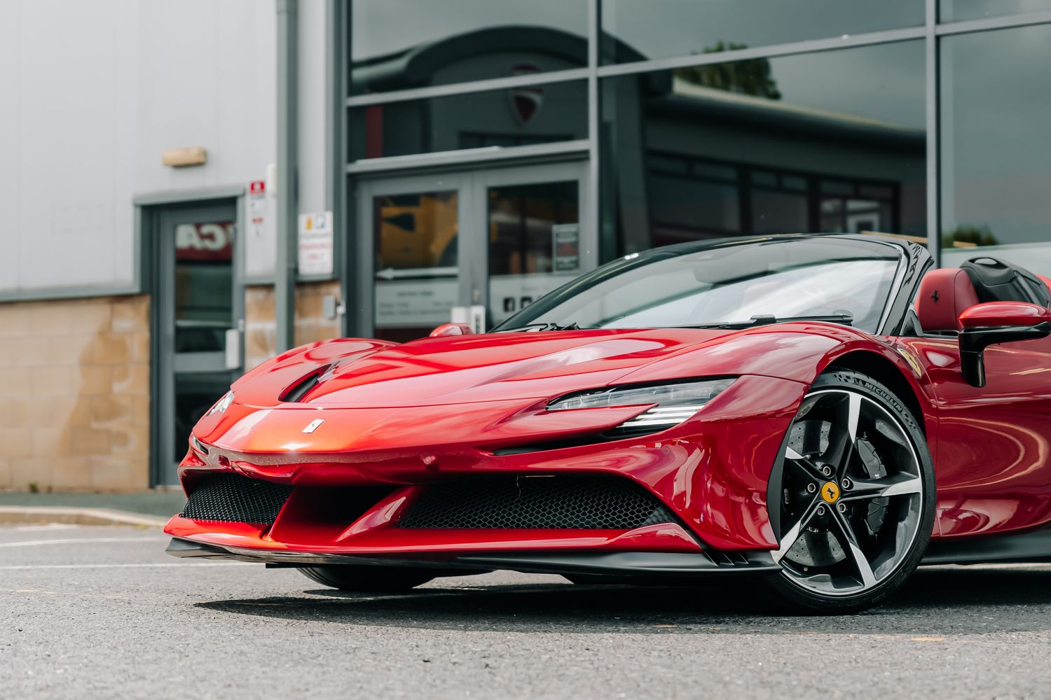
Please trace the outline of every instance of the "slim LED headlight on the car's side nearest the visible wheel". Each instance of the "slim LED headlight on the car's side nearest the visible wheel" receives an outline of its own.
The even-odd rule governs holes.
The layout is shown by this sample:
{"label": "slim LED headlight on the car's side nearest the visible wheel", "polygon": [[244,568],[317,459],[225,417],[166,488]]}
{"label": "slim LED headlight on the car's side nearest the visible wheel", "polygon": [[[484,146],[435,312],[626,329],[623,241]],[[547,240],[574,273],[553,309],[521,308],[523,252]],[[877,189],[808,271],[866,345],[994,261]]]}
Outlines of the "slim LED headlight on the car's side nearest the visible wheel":
{"label": "slim LED headlight on the car's side nearest the visible wheel", "polygon": [[627,386],[582,391],[552,401],[548,404],[548,410],[637,406],[655,403],[656,406],[620,424],[616,430],[618,432],[657,432],[682,423],[733,383],[734,378],[709,379],[703,382],[682,384]]}

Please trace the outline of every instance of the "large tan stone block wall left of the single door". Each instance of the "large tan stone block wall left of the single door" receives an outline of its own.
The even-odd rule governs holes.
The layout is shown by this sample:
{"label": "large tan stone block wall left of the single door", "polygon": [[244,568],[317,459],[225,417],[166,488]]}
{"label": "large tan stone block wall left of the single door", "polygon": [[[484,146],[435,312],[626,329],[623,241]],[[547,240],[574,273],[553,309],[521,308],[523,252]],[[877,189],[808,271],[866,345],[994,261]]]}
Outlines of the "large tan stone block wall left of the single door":
{"label": "large tan stone block wall left of the single door", "polygon": [[0,304],[0,489],[149,487],[149,298]]}

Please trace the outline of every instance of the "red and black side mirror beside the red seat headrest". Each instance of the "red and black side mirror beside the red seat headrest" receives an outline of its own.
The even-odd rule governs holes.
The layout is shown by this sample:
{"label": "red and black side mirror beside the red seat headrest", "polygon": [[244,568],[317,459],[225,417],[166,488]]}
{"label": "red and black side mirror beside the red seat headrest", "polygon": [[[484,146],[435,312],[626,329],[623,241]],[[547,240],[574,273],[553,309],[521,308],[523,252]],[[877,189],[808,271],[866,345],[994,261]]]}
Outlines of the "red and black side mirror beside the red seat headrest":
{"label": "red and black side mirror beside the red seat headrest", "polygon": [[1051,310],[1024,301],[987,301],[960,315],[960,368],[971,386],[985,386],[989,345],[1051,335]]}

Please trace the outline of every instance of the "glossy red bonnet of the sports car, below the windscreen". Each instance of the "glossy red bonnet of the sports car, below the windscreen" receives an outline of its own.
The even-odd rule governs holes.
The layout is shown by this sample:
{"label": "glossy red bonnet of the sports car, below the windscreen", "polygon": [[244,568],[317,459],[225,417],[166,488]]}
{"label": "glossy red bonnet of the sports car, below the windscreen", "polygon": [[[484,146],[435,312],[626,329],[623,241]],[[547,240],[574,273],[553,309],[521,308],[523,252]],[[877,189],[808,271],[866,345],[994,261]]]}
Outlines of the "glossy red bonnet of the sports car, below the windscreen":
{"label": "glossy red bonnet of the sports car, below the windscreen", "polygon": [[[259,407],[408,407],[548,399],[615,383],[658,360],[731,333],[700,328],[501,333],[425,338],[400,345],[328,341],[279,357],[233,388],[236,403]],[[704,368],[698,367],[697,376],[703,374]],[[301,396],[288,403],[296,393]]]}

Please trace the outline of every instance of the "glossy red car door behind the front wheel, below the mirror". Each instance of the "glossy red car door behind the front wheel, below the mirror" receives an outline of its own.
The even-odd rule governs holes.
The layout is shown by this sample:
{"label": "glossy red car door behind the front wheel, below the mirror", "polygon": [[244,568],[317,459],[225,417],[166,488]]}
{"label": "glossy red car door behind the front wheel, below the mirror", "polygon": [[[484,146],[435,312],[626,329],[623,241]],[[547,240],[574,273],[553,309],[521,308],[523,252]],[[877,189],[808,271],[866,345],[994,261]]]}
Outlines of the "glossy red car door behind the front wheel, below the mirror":
{"label": "glossy red car door behind the front wheel, below the mirror", "polygon": [[964,381],[954,337],[899,338],[931,381],[942,535],[1051,521],[1051,338],[992,345],[987,383]]}

